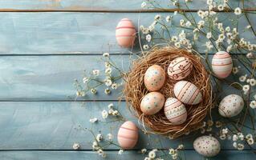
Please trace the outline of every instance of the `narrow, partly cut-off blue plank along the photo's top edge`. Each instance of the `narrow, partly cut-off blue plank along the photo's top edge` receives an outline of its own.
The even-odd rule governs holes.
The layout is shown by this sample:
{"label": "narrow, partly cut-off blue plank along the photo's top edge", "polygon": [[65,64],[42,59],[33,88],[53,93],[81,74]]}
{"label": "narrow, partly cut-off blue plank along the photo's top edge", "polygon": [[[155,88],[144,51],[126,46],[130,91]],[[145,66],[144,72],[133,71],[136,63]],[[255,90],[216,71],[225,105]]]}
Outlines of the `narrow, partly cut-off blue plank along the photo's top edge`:
{"label": "narrow, partly cut-off blue plank along the photo's top edge", "polygon": [[[140,11],[141,3],[144,0],[2,0],[0,2],[0,10],[100,10],[100,11]],[[176,8],[169,0],[156,1],[162,7],[173,9]],[[184,2],[184,1],[181,1]],[[230,1],[230,6],[239,6],[240,0]],[[245,2],[246,8],[254,8],[254,0],[248,0]],[[192,3],[188,3],[189,9],[192,10],[204,10],[207,9],[205,0],[197,0]],[[240,6],[242,6],[240,2]],[[181,8],[187,9],[183,4]]]}

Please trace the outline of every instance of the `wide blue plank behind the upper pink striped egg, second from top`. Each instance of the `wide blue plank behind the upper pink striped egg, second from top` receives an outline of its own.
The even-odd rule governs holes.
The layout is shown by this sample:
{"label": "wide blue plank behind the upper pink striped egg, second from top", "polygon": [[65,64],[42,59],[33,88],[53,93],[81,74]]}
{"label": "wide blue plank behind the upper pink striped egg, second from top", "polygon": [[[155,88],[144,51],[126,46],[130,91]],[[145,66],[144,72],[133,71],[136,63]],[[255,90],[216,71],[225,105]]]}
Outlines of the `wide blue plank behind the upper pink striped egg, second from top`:
{"label": "wide blue plank behind the upper pink striped egg, second from top", "polygon": [[[224,26],[230,25],[228,19],[237,18],[234,14],[220,14],[223,15],[220,20],[225,22]],[[149,26],[155,15],[155,13],[0,13],[0,54],[100,54],[109,50],[111,53],[129,54],[131,49],[123,49],[116,44],[117,23],[122,18],[130,18],[136,28],[140,25]],[[170,14],[161,15],[165,19]],[[256,14],[249,16],[252,25],[256,26],[254,21]],[[181,18],[181,15],[177,15],[173,18],[173,22],[179,25]],[[197,18],[197,21],[199,20]],[[239,30],[244,30],[246,26],[248,26],[246,18],[239,18]],[[161,29],[156,27],[156,30]],[[169,32],[171,35],[177,35],[181,30],[172,28]],[[251,31],[247,30],[239,35],[251,43],[256,42]],[[200,53],[205,53],[205,42],[205,38],[200,38],[194,48]],[[140,51],[139,42],[136,42],[132,51],[135,53]]]}

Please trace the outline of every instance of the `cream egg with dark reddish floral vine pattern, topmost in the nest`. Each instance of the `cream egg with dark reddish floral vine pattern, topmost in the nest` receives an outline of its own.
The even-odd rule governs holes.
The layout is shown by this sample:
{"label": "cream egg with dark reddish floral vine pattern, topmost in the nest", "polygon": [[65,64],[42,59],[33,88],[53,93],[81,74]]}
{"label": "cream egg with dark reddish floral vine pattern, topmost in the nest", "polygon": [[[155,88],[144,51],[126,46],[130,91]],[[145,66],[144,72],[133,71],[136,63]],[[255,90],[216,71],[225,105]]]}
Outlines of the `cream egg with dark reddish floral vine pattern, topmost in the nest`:
{"label": "cream egg with dark reddish floral vine pattern, topmost in the nest", "polygon": [[179,57],[173,59],[168,67],[169,78],[173,80],[181,80],[186,78],[193,69],[193,64],[189,58]]}

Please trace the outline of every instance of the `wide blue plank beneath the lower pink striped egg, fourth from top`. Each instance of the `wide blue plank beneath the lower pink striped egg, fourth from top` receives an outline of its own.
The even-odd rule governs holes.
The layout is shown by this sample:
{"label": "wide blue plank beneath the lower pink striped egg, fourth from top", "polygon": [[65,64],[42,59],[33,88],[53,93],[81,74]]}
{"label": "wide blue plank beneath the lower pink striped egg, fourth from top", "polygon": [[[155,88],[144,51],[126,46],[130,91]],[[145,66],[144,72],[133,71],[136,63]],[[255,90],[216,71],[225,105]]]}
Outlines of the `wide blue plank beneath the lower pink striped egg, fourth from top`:
{"label": "wide blue plank beneath the lower pink striped egg, fourth from top", "polygon": [[[91,150],[94,140],[87,128],[94,130],[95,134],[103,134],[107,138],[108,133],[114,135],[116,141],[117,132],[123,122],[114,122],[116,118],[101,117],[102,110],[108,110],[112,102],[1,102],[0,103],[0,150],[72,150],[74,142],[79,142],[82,150]],[[137,119],[126,108],[125,102],[113,102],[116,109],[125,119],[139,125]],[[213,113],[217,110],[213,110]],[[91,126],[90,118],[98,118],[100,122]],[[221,118],[218,114],[214,118]],[[250,124],[250,123],[248,123]],[[245,133],[250,133],[250,130]],[[192,133],[188,136],[169,140],[163,136],[144,134],[140,130],[140,138],[135,147],[158,148],[168,150],[184,144],[186,150],[193,149],[193,140],[200,136]],[[108,146],[108,150],[118,150],[117,146]],[[222,150],[234,150],[232,142],[222,141]],[[248,147],[246,146],[246,149]]]}

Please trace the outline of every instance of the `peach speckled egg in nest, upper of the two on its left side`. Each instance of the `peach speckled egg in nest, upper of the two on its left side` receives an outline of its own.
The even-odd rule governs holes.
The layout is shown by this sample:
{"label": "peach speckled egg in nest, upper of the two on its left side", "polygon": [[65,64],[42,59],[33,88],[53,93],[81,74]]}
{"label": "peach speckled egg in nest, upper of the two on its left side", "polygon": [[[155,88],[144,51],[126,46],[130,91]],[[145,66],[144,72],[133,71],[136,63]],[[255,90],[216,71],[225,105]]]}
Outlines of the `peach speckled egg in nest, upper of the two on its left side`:
{"label": "peach speckled egg in nest, upper of the two on its left side", "polygon": [[149,91],[160,90],[165,84],[165,70],[158,65],[148,67],[144,74],[144,85]]}

